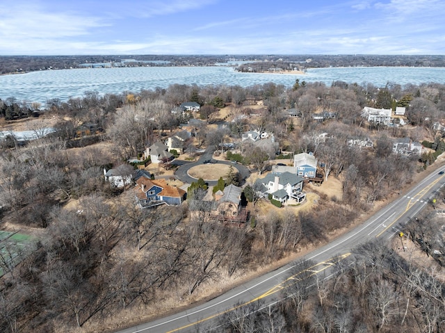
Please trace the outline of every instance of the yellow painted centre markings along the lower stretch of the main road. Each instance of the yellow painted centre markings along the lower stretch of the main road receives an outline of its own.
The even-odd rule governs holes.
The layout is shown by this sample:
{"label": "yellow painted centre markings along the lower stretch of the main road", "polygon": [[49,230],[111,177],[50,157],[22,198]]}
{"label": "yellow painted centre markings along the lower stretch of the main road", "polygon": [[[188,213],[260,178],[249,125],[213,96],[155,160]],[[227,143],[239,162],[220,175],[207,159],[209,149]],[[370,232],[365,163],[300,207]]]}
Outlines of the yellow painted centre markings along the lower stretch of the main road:
{"label": "yellow painted centre markings along the lower stretch of the main road", "polygon": [[[340,256],[338,256],[338,257],[334,257],[334,258],[331,258],[331,259],[328,259],[327,261],[322,261],[321,263],[316,263],[314,266],[309,267],[309,268],[307,268],[306,270],[311,270],[312,272],[314,272],[314,273],[312,273],[312,274],[310,275],[310,276],[312,276],[312,275],[315,275],[315,274],[317,274],[317,273],[323,272],[323,270],[325,270],[326,268],[330,268],[330,267],[334,266],[336,263],[338,263],[339,261],[341,261],[341,260],[343,260],[343,259],[346,259],[346,258],[349,257],[349,256],[350,256],[350,253],[341,254]],[[312,270],[312,269],[315,268],[316,266],[321,266],[321,265],[326,265],[326,266],[323,267],[323,268],[320,268],[320,269],[318,269],[318,270]],[[168,332],[166,332],[166,333],[178,332],[178,331],[180,331],[180,330],[184,330],[184,329],[186,329],[186,328],[188,328],[188,327],[191,327],[191,326],[193,326],[193,325],[197,325],[197,324],[200,324],[200,323],[204,323],[204,321],[207,321],[207,320],[216,318],[216,317],[218,317],[218,316],[221,316],[222,314],[227,314],[227,313],[230,312],[230,311],[234,311],[234,310],[236,310],[236,309],[239,309],[240,307],[244,307],[245,305],[248,305],[248,304],[250,304],[250,303],[252,303],[252,302],[256,302],[257,300],[261,300],[261,298],[266,298],[266,297],[269,296],[269,295],[273,295],[274,293],[277,293],[278,291],[284,289],[284,288],[285,288],[284,284],[285,284],[287,281],[289,281],[289,280],[291,280],[291,279],[295,279],[296,276],[300,275],[300,274],[301,274],[302,272],[304,272],[304,271],[305,271],[305,270],[302,270],[302,271],[298,272],[296,275],[292,275],[291,277],[288,277],[287,279],[284,280],[284,282],[281,282],[280,284],[277,284],[277,285],[274,286],[272,289],[269,289],[269,291],[266,291],[266,293],[264,293],[263,295],[260,295],[260,296],[257,297],[257,298],[254,298],[253,300],[250,300],[250,301],[245,302],[245,303],[243,303],[243,304],[239,304],[239,305],[237,305],[236,307],[232,307],[232,308],[227,309],[227,310],[225,310],[225,311],[223,311],[223,312],[220,312],[220,313],[218,313],[218,314],[213,314],[213,315],[211,315],[211,316],[209,316],[209,317],[207,317],[207,318],[203,318],[203,319],[201,319],[201,320],[196,320],[194,323],[190,323],[190,324],[184,325],[184,326],[182,326],[182,327],[178,327],[178,328],[176,328],[175,330],[171,330],[171,331],[168,331]]]}

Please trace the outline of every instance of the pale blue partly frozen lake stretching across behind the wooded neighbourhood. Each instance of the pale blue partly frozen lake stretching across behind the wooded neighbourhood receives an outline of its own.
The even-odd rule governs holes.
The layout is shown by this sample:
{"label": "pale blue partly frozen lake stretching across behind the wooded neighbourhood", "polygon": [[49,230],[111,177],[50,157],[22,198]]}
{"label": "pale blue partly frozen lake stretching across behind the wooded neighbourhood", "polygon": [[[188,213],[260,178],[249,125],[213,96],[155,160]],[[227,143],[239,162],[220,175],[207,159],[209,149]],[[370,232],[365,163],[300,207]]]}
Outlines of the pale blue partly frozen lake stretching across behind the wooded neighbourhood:
{"label": "pale blue partly frozen lake stretching across behind the wooded neighbourhood", "polygon": [[17,101],[47,99],[66,101],[81,97],[86,91],[100,94],[140,92],[171,84],[197,86],[254,86],[273,82],[286,87],[300,81],[320,81],[330,86],[333,81],[372,83],[383,87],[387,82],[405,86],[408,83],[445,83],[445,68],[434,67],[341,67],[307,70],[306,74],[254,74],[236,72],[232,67],[113,67],[73,70],[47,70],[0,76],[0,99],[15,97]]}

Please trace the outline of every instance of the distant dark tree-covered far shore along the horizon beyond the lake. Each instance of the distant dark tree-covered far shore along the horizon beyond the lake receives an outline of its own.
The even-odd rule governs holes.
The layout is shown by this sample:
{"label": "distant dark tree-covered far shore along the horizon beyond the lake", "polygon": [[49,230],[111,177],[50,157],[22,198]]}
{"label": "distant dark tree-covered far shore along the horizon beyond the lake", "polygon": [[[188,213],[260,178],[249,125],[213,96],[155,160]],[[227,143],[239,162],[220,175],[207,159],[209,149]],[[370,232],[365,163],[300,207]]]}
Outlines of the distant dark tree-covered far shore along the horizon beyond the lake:
{"label": "distant dark tree-covered far shore along the horizon beyond the lake", "polygon": [[218,63],[238,65],[241,72],[252,67],[254,71],[280,67],[293,70],[317,67],[357,67],[357,66],[407,66],[445,67],[444,56],[388,56],[388,55],[132,55],[132,56],[0,56],[0,74],[24,73],[40,70],[67,70],[82,68],[92,64],[97,67],[113,66],[213,66]]}

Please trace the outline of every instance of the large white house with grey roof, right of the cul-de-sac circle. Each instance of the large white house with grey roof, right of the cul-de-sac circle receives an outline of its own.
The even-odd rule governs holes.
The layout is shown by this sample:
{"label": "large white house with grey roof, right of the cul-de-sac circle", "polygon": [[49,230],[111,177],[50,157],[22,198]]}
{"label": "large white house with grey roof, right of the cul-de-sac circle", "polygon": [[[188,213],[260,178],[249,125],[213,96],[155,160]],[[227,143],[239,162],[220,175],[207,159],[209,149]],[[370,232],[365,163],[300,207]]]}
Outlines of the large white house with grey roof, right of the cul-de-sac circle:
{"label": "large white house with grey roof, right of the cul-de-sac circle", "polygon": [[272,195],[274,200],[280,201],[282,204],[289,199],[297,202],[305,200],[306,195],[302,193],[303,178],[291,172],[283,172],[275,174],[271,172],[262,179],[257,179],[257,183],[264,186],[266,193]]}

